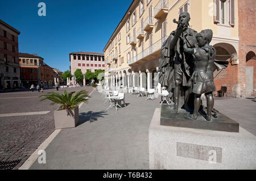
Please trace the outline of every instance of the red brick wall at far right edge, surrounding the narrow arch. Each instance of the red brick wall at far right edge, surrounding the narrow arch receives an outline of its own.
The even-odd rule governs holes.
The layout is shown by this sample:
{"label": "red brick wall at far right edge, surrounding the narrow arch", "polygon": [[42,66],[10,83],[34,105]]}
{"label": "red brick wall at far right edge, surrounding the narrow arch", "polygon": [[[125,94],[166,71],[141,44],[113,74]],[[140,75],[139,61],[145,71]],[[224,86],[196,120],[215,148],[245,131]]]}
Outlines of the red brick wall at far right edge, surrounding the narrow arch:
{"label": "red brick wall at far right edge, surrounding the narrow arch", "polygon": [[[246,54],[250,51],[256,53],[255,47],[255,0],[238,0],[239,24],[239,59],[238,81],[241,85],[241,96],[245,96],[246,85]],[[254,68],[255,70],[255,68]],[[255,80],[254,74],[254,80]]]}

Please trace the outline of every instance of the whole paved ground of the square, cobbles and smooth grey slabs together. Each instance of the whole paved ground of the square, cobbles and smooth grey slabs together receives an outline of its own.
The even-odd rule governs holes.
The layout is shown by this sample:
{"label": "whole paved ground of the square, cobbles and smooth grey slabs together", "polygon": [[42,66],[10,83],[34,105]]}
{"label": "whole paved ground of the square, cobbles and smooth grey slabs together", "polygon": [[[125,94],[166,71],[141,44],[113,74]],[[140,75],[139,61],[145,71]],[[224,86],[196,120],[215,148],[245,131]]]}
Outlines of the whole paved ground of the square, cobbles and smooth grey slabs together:
{"label": "whole paved ground of the square, cobbles and smooth grey slabs together", "polygon": [[[81,89],[93,90],[92,87],[76,90]],[[53,90],[45,92],[48,91]],[[54,131],[53,111],[59,106],[49,106],[48,100],[39,102],[41,94],[0,94],[0,163],[9,162],[12,169],[18,169]],[[148,128],[155,108],[160,108],[160,98],[152,101],[127,93],[125,96],[126,107],[106,110],[109,103],[104,104],[102,95],[94,91],[88,104],[79,110],[79,125],[62,129],[46,148],[46,164],[36,161],[30,169],[149,169]],[[216,98],[214,108],[256,135],[255,101],[255,98]],[[49,112],[1,117],[6,113],[40,111]]]}

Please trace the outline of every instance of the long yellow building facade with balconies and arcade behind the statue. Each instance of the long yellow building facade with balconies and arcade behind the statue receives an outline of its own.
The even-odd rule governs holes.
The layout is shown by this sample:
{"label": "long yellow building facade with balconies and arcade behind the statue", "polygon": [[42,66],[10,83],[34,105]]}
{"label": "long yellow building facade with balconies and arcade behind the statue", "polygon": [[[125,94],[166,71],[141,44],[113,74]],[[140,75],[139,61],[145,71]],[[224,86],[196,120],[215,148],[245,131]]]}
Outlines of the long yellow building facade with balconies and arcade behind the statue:
{"label": "long yellow building facade with balconies and arcade behind the statue", "polygon": [[160,48],[184,11],[193,30],[213,31],[216,59],[239,63],[237,0],[134,0],[104,48],[106,84],[160,88]]}

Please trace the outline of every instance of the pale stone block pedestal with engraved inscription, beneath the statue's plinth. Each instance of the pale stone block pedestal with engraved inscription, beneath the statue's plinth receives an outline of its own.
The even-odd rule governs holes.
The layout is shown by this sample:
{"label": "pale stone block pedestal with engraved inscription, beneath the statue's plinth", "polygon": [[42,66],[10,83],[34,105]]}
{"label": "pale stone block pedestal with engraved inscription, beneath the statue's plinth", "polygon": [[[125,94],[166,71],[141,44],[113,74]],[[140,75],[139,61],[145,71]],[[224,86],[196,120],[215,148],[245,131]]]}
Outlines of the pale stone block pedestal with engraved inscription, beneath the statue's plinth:
{"label": "pale stone block pedestal with engraved inscription, beneath the statue's plinth", "polygon": [[148,146],[150,169],[256,169],[256,137],[240,132],[160,125],[152,117]]}

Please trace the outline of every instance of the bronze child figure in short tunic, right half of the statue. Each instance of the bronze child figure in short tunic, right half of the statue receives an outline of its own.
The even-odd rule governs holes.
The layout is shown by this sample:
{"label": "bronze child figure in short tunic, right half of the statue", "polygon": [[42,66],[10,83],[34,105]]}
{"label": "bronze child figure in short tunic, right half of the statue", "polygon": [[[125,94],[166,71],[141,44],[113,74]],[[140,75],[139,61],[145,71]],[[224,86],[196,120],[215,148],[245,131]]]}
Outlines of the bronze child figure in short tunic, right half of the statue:
{"label": "bronze child figure in short tunic, right half of the statue", "polygon": [[196,35],[198,47],[188,48],[186,44],[183,46],[184,52],[191,53],[196,58],[195,71],[188,81],[188,86],[192,86],[192,92],[195,94],[193,115],[188,115],[193,120],[198,116],[201,94],[205,93],[207,97],[207,121],[210,121],[214,105],[213,91],[216,87],[213,82],[213,66],[216,49],[209,45],[212,36],[212,30],[202,30]]}

